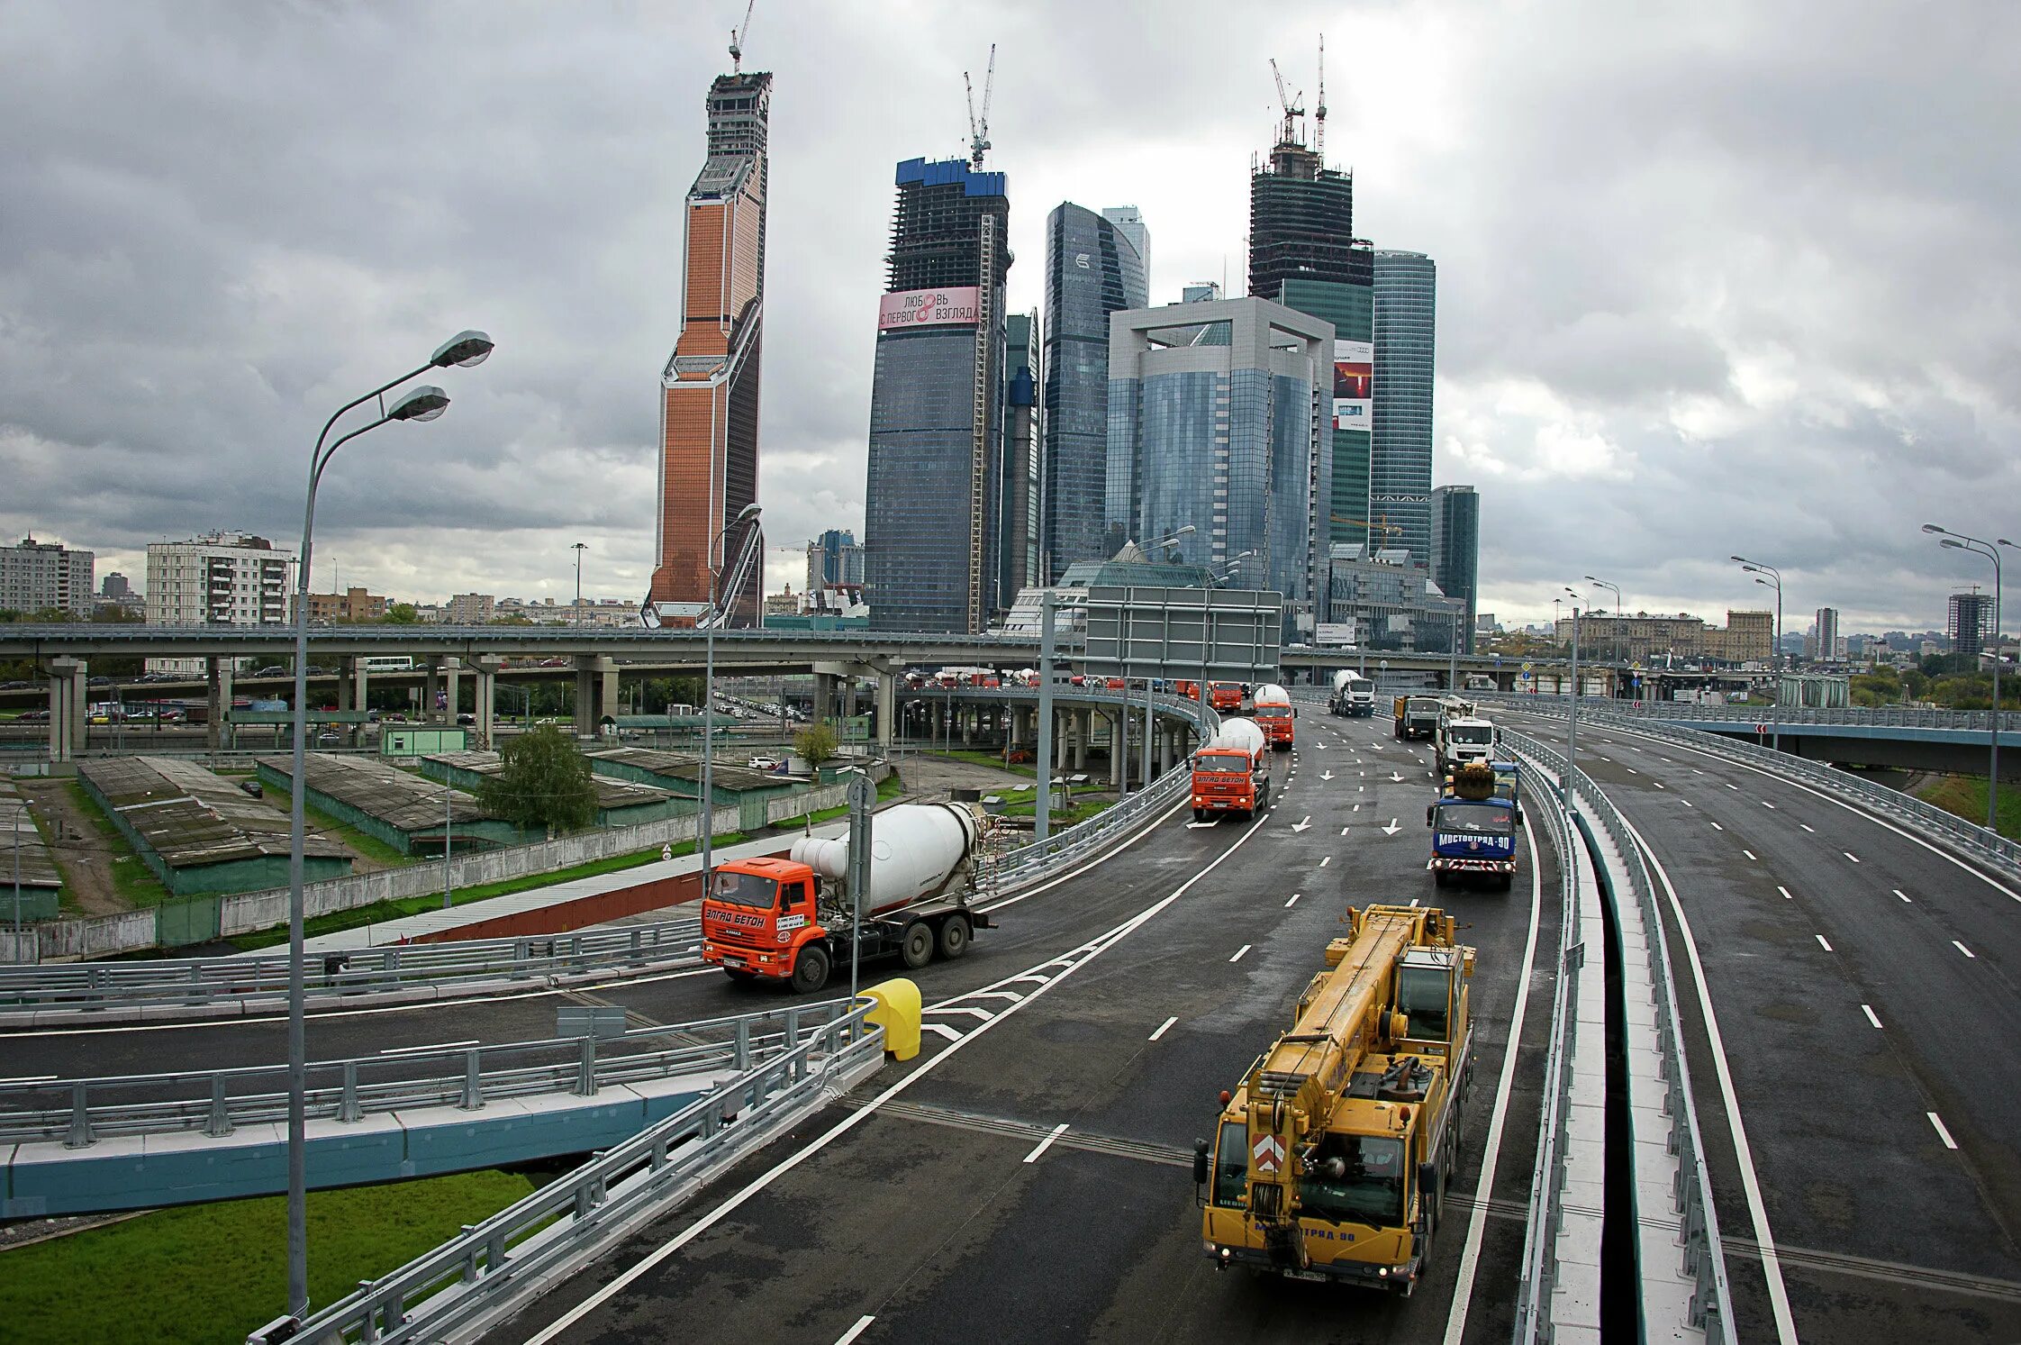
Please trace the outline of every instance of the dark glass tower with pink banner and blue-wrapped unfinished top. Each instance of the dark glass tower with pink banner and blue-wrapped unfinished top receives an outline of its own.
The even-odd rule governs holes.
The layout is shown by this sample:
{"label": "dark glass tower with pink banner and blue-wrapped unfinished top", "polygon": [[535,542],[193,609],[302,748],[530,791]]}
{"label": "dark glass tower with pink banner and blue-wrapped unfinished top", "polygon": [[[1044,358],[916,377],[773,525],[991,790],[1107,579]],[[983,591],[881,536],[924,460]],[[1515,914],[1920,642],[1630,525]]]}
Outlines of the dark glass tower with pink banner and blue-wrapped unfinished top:
{"label": "dark glass tower with pink banner and blue-wrapped unfinished top", "polygon": [[1004,174],[897,166],[871,380],[863,560],[871,629],[982,631],[1002,522]]}

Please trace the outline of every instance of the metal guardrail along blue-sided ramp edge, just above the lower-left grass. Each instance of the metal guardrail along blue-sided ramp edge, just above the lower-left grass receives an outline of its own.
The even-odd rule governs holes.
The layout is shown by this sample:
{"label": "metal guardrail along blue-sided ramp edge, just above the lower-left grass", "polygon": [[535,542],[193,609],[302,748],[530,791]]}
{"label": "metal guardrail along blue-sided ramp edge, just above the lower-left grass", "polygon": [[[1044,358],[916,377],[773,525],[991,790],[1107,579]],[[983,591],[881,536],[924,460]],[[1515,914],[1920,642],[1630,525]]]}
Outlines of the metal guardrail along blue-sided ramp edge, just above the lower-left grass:
{"label": "metal guardrail along blue-sided ramp edge, just above the lower-left grass", "polygon": [[[354,1123],[418,1106],[481,1110],[497,1098],[596,1096],[600,1088],[701,1070],[750,1070],[843,1017],[841,999],[643,1027],[620,1036],[412,1050],[307,1068],[307,1114]],[[202,1131],[287,1118],[287,1066],[0,1084],[0,1143],[89,1149],[115,1135]]]}

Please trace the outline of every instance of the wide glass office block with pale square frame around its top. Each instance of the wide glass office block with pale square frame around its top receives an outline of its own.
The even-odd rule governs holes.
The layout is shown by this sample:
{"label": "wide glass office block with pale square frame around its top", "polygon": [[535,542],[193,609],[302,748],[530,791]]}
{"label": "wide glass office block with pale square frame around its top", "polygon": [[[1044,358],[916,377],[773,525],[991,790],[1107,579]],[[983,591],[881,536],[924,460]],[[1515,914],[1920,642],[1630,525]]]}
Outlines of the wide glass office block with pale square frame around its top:
{"label": "wide glass office block with pale square frame around its top", "polygon": [[1108,542],[1190,526],[1170,544],[1180,560],[1275,589],[1287,617],[1312,621],[1332,498],[1332,362],[1324,320],[1265,299],[1114,313]]}

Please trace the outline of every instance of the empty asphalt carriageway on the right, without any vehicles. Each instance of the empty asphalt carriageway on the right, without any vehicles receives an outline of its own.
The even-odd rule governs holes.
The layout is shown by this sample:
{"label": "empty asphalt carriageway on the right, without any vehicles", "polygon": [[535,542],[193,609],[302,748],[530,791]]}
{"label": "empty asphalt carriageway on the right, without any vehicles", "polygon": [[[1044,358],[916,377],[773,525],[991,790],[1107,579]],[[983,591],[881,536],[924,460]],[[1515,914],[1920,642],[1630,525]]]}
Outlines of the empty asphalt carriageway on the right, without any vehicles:
{"label": "empty asphalt carriageway on the right, without any vehicles", "polygon": [[[1562,720],[1508,722],[1564,746]],[[1734,1106],[1665,910],[1740,1339],[2021,1341],[2021,894],[1659,738],[1584,724],[1578,765],[1704,967]]]}

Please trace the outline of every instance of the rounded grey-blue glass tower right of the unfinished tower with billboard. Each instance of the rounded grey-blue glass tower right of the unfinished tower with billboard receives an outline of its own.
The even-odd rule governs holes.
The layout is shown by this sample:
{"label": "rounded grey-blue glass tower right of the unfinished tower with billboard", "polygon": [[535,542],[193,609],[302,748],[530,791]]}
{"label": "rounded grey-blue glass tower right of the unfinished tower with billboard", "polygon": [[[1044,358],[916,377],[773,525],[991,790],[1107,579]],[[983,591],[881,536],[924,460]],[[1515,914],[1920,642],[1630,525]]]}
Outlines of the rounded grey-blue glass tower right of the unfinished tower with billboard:
{"label": "rounded grey-blue glass tower right of the unfinished tower with billboard", "polygon": [[1431,380],[1439,269],[1423,253],[1376,253],[1374,443],[1368,508],[1403,528],[1386,546],[1431,558]]}

